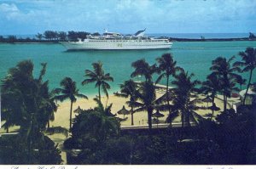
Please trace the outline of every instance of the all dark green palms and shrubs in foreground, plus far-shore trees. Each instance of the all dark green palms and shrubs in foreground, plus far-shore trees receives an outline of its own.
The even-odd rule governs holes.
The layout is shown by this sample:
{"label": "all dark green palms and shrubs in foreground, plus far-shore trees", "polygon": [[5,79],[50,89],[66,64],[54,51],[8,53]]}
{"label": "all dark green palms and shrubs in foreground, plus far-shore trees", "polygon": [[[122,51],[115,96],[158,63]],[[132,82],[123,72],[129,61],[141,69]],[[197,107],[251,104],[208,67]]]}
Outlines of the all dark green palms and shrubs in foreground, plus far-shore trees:
{"label": "all dark green palms and shrubs in foreground, plus far-shore trees", "polygon": [[[60,34],[49,39],[86,36],[84,32]],[[42,36],[38,34],[38,38]],[[72,118],[77,98],[88,99],[79,93],[77,83],[65,77],[61,87],[51,91],[49,81],[44,81],[47,65],[43,63],[35,77],[32,61],[21,61],[9,69],[1,83],[3,127],[7,132],[9,127],[20,128],[16,135],[0,138],[0,163],[61,164],[61,151],[46,136],[46,131],[50,128],[49,121],[54,120],[56,101],[69,100],[69,137],[64,142],[67,164],[255,164],[256,106],[241,104],[236,110],[227,106],[228,98],[245,83],[241,73],[250,72],[247,91],[248,87],[255,90],[252,84],[255,51],[247,48],[239,53],[241,61],[235,63],[234,57],[212,60],[205,82],[179,67],[172,54],[163,54],[153,64],[145,59],[133,62],[131,77],[127,77],[115,95],[127,98],[131,125],[134,113],[146,111],[148,128],[126,130],[120,127],[116,112],[112,112],[113,104],[102,104],[102,92],[108,98],[111,84],[108,82],[113,82],[113,76],[103,70],[102,62],[93,63],[93,70],[86,69],[85,79],[81,80],[83,85],[95,83],[96,107],[80,109]],[[143,76],[143,80],[135,82],[133,78],[137,76]],[[165,93],[157,96],[159,82],[166,87]],[[218,94],[223,95],[224,109],[214,115]],[[202,106],[204,97],[210,99],[212,106]],[[212,110],[210,118],[201,116],[200,109]],[[154,127],[152,116],[158,111],[168,112],[166,122],[170,127]],[[172,125],[178,117],[180,127]]]}

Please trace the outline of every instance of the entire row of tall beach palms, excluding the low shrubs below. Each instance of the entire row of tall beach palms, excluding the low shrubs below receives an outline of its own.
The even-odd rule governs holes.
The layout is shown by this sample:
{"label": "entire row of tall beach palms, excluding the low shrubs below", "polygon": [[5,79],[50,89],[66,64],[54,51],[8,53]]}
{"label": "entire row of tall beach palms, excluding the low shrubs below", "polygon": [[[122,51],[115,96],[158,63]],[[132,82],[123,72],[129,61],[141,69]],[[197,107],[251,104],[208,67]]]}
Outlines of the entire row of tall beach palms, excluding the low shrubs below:
{"label": "entire row of tall beach palms, excluding the low shrubs below", "polygon": [[[226,59],[218,57],[212,60],[211,74],[207,76],[206,82],[194,80],[194,74],[189,74],[183,68],[177,66],[172,54],[163,54],[156,59],[156,64],[149,65],[145,59],[139,59],[131,64],[134,71],[131,79],[120,85],[120,93],[115,93],[119,97],[129,98],[127,104],[131,107],[131,125],[134,125],[133,115],[136,112],[148,112],[148,128],[152,129],[152,115],[156,110],[166,110],[169,115],[166,119],[171,123],[181,116],[183,126],[190,126],[190,121],[196,122],[201,119],[195,110],[201,107],[197,103],[201,102],[198,93],[207,94],[212,99],[212,116],[214,112],[214,99],[218,93],[224,97],[224,111],[227,110],[227,99],[233,91],[239,90],[236,84],[244,84],[245,80],[238,73],[250,72],[247,82],[247,91],[253,78],[253,70],[256,66],[256,49],[247,48],[245,52],[239,53],[241,61],[232,64],[234,57]],[[43,69],[38,78],[32,76],[33,65],[31,60],[20,62],[15,68],[9,70],[9,74],[3,79],[2,99],[3,99],[3,120],[7,130],[10,126],[18,125],[20,128],[31,126],[31,121],[38,123],[38,131],[44,129],[49,120],[54,120],[54,112],[57,109],[55,100],[63,101],[70,99],[70,125],[72,127],[73,103],[77,98],[88,99],[84,94],[79,93],[76,82],[72,78],[65,77],[61,81],[61,87],[49,91],[48,81],[43,82],[46,64],[42,64]],[[105,73],[102,63],[99,61],[92,64],[93,70],[85,70],[86,79],[83,85],[95,83],[98,90],[97,101],[102,104],[102,93],[108,98],[108,90],[113,82],[113,77]],[[154,82],[153,76],[158,75]],[[143,76],[143,82],[134,82],[133,77]],[[156,97],[157,83],[166,77],[166,93],[160,98]],[[171,81],[172,79],[172,81]],[[172,83],[172,88],[170,84]],[[201,85],[201,87],[200,87]],[[245,94],[243,104],[247,97]],[[15,106],[14,106],[15,105]]]}

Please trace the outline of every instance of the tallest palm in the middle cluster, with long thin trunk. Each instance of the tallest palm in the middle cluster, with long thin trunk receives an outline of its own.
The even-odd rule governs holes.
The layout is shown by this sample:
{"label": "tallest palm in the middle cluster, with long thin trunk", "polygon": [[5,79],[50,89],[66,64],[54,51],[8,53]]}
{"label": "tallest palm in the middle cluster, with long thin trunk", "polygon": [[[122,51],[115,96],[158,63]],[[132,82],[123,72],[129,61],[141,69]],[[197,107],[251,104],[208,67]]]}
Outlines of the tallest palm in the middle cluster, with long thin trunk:
{"label": "tallest palm in the middle cluster, with long thin trunk", "polygon": [[174,76],[177,72],[177,70],[181,70],[180,67],[176,66],[176,61],[173,60],[172,54],[163,54],[160,58],[156,59],[159,63],[159,69],[162,72],[158,79],[156,80],[156,83],[160,82],[160,80],[163,77],[166,77],[166,100],[169,110],[169,115],[171,114],[171,105],[170,105],[170,99],[169,99],[169,78],[170,76]]}

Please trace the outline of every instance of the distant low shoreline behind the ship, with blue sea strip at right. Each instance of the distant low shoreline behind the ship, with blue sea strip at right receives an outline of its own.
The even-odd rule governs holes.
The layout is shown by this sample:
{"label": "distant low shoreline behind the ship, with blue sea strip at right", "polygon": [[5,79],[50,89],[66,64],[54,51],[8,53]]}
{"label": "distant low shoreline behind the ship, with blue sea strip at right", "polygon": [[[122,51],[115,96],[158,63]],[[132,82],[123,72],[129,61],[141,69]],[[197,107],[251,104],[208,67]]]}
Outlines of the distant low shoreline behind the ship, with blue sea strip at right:
{"label": "distant low shoreline behind the ship, with blue sea strip at right", "polygon": [[[121,35],[121,34],[120,34]],[[67,41],[82,41],[90,37],[101,37],[98,32],[90,33],[86,31],[44,31],[37,35],[9,35],[1,36],[0,42],[3,43],[58,43]],[[125,36],[132,36],[131,34]],[[144,36],[144,35],[143,35]],[[234,41],[256,41],[256,36],[249,32],[247,33],[152,33],[144,37],[164,38],[171,42],[234,42]],[[119,37],[120,38],[120,37]]]}

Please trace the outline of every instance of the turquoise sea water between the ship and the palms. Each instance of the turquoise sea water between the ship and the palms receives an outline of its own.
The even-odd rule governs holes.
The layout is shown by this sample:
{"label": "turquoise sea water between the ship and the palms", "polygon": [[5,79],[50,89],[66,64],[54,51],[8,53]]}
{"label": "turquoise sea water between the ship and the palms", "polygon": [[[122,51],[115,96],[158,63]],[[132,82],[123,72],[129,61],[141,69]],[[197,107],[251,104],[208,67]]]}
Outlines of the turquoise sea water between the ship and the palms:
{"label": "turquoise sea water between the ship and the palms", "polygon": [[[175,37],[171,34],[154,34],[157,37]],[[247,37],[245,34],[176,34],[176,37],[195,38],[204,36],[206,38],[229,38]],[[34,64],[34,76],[39,75],[40,63],[47,63],[44,80],[49,80],[50,89],[60,87],[61,80],[72,77],[77,83],[81,93],[89,97],[97,94],[95,84],[82,86],[81,82],[86,78],[84,70],[92,70],[92,63],[101,61],[105,73],[113,76],[114,82],[109,82],[111,89],[109,94],[119,91],[119,84],[131,78],[134,70],[131,63],[137,59],[146,59],[149,64],[156,63],[155,59],[162,54],[171,53],[177,61],[177,65],[183,67],[189,73],[194,73],[194,79],[205,81],[210,74],[212,60],[218,56],[230,58],[236,56],[240,60],[239,52],[245,51],[247,47],[256,48],[256,41],[230,41],[230,42],[173,42],[171,49],[156,50],[88,50],[67,51],[61,44],[7,44],[0,43],[0,79],[8,74],[9,68],[18,62],[31,59]],[[242,74],[248,79],[249,73]],[[157,76],[154,76],[156,79]],[[143,77],[134,80],[143,81]],[[256,72],[253,72],[253,82],[256,82]],[[165,84],[165,81],[160,82]]]}

